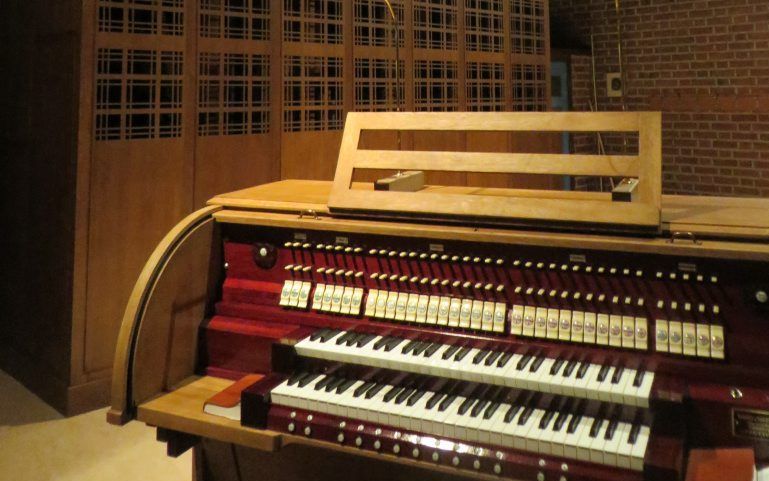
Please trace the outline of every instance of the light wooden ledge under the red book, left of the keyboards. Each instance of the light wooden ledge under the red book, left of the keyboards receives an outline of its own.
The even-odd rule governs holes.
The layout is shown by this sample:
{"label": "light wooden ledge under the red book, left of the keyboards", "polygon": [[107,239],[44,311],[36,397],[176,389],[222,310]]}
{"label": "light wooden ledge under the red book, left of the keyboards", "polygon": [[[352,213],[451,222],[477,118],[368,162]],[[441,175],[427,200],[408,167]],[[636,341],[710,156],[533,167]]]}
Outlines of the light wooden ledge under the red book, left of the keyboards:
{"label": "light wooden ledge under the red book, left of the keyboards", "polygon": [[173,429],[217,441],[256,449],[275,451],[280,447],[280,433],[242,427],[239,421],[203,412],[205,401],[232,384],[211,376],[190,378],[169,393],[139,405],[137,420],[150,426]]}

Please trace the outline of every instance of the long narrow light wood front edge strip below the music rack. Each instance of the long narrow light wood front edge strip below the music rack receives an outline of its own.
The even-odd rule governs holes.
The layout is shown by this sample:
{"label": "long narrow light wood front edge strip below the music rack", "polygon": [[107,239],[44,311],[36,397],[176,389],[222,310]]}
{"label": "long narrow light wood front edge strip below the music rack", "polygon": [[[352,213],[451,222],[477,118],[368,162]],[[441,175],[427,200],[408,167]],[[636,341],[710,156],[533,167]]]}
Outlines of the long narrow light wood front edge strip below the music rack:
{"label": "long narrow light wood front edge strip below the music rack", "polygon": [[640,254],[677,256],[719,257],[727,259],[769,260],[769,244],[764,242],[739,242],[727,240],[703,240],[669,242],[663,237],[632,237],[600,234],[577,234],[487,227],[465,227],[456,224],[418,224],[368,219],[341,219],[320,217],[300,219],[296,215],[251,212],[225,209],[214,214],[219,222],[245,225],[261,225],[297,230],[327,230],[357,234],[397,235],[414,239],[440,239],[466,242],[494,242],[543,247],[560,247],[581,252],[585,249]]}

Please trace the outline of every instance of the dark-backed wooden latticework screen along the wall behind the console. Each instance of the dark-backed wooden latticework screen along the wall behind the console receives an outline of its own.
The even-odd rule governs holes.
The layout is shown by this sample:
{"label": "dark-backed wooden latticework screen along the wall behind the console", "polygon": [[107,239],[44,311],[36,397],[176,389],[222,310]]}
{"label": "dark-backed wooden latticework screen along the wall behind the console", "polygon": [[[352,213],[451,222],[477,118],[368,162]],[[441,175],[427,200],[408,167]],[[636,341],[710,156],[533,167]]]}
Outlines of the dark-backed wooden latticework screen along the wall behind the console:
{"label": "dark-backed wooden latticework screen along the wall behind the console", "polygon": [[[201,152],[201,139],[227,147],[264,138],[284,175],[312,145],[329,152],[302,172],[328,177],[349,111],[549,105],[546,0],[394,0],[400,90],[381,0],[95,3],[100,143],[177,139],[195,162],[216,163],[206,156],[232,149]],[[335,140],[319,143],[324,132]]]}

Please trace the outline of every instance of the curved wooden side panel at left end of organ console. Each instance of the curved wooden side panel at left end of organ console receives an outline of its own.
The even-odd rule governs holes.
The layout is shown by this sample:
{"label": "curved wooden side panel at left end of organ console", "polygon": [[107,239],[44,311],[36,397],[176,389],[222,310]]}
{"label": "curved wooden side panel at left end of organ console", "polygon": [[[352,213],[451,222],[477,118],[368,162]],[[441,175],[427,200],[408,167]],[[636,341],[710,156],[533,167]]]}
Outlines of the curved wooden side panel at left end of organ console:
{"label": "curved wooden side panel at left end of organ console", "polygon": [[142,269],[118,334],[107,421],[122,425],[136,405],[193,374],[197,326],[205,315],[218,259],[214,212],[177,224]]}

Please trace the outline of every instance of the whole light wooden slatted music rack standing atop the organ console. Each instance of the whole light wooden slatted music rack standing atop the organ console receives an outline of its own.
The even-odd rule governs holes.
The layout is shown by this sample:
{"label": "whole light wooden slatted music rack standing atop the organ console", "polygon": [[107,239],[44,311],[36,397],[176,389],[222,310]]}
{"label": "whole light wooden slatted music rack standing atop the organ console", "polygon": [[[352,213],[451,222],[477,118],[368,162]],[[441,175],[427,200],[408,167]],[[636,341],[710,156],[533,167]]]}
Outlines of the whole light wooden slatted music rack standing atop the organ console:
{"label": "whole light wooden slatted music rack standing atop the organ console", "polygon": [[[488,152],[391,151],[359,148],[362,131],[455,132],[625,132],[638,133],[635,155],[577,155]],[[662,147],[659,112],[361,113],[347,116],[331,212],[513,223],[556,221],[658,228]],[[468,173],[551,174],[638,179],[631,202],[613,202],[582,192],[537,191],[521,195],[503,189],[426,189],[382,192],[353,189],[356,169],[426,170]],[[459,192],[459,193],[458,193]]]}

